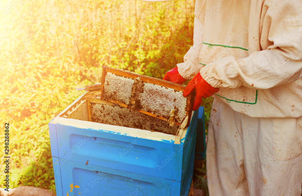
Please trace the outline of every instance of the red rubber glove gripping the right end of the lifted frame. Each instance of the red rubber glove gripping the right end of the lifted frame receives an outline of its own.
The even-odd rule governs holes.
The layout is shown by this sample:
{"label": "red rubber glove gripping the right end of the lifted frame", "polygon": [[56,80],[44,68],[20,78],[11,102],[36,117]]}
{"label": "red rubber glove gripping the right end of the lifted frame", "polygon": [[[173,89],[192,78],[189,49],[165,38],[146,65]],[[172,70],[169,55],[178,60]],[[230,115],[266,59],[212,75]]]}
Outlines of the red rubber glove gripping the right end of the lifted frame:
{"label": "red rubber glove gripping the right end of the lifted frame", "polygon": [[193,79],[188,83],[183,96],[188,96],[192,91],[196,89],[195,101],[193,104],[193,111],[197,110],[202,103],[202,98],[207,98],[209,96],[214,95],[218,92],[219,88],[212,87],[209,83],[207,83],[200,75],[200,73],[196,74]]}

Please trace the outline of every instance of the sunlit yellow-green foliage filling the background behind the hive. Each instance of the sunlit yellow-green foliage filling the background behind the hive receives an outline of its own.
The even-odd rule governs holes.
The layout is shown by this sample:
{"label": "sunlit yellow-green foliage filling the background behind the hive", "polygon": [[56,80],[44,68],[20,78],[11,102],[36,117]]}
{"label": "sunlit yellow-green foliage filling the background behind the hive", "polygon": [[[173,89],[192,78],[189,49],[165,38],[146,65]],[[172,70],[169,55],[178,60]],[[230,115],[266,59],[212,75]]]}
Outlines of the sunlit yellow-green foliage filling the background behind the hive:
{"label": "sunlit yellow-green foliage filling the background behind the hive", "polygon": [[[162,78],[193,44],[189,0],[1,3],[0,124],[10,123],[10,188],[55,189],[48,123],[83,93],[74,88],[101,81],[102,65]],[[206,121],[210,105],[204,101]]]}

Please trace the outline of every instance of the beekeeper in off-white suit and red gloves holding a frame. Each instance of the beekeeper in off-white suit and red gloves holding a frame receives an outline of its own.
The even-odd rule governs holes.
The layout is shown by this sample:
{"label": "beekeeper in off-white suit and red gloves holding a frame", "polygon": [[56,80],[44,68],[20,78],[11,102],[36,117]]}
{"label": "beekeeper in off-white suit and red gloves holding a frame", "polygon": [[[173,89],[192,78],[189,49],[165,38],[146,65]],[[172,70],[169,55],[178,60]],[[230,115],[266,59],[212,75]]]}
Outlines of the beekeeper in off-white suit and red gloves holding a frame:
{"label": "beekeeper in off-white suit and red gloves holding a frame", "polygon": [[300,196],[302,1],[196,0],[194,44],[164,79],[214,97],[210,196]]}

